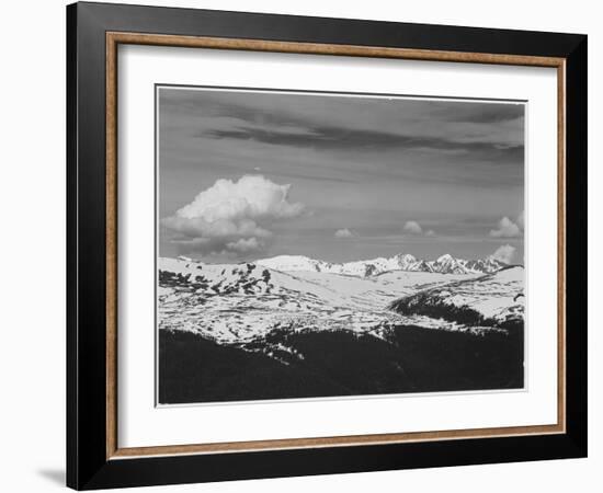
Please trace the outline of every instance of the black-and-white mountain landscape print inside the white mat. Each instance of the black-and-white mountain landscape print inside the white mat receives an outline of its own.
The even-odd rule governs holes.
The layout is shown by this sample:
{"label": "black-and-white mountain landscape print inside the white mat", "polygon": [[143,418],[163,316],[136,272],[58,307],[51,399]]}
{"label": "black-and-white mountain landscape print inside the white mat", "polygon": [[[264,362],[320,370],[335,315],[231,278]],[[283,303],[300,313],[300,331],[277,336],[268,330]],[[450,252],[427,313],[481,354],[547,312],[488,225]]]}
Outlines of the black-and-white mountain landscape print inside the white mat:
{"label": "black-and-white mountain landscape print inside the white mat", "polygon": [[157,85],[158,404],[522,389],[524,117]]}

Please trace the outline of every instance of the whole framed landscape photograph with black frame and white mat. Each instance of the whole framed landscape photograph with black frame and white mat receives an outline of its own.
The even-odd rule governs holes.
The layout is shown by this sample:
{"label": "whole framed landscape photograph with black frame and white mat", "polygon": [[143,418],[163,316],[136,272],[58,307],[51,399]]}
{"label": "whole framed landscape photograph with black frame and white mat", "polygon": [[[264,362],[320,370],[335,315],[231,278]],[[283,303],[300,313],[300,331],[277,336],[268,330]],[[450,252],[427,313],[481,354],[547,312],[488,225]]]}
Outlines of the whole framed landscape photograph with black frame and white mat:
{"label": "whole framed landscape photograph with black frame and white mat", "polygon": [[587,455],[587,36],[67,8],[67,483]]}

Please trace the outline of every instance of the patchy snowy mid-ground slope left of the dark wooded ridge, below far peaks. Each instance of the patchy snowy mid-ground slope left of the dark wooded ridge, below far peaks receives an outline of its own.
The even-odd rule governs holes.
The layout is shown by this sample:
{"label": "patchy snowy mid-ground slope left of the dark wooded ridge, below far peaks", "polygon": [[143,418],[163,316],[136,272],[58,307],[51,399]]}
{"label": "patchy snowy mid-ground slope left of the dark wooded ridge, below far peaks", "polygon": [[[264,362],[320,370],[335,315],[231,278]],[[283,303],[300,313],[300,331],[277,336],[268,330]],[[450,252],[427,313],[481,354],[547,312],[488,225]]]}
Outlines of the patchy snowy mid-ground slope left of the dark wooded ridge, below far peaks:
{"label": "patchy snowy mid-ground slope left of the dark wooded ridge, below far peaks", "polygon": [[254,263],[203,264],[159,259],[160,329],[220,343],[251,341],[273,329],[378,331],[396,324],[458,328],[388,310],[395,299],[474,275],[392,271],[371,277],[280,272]]}

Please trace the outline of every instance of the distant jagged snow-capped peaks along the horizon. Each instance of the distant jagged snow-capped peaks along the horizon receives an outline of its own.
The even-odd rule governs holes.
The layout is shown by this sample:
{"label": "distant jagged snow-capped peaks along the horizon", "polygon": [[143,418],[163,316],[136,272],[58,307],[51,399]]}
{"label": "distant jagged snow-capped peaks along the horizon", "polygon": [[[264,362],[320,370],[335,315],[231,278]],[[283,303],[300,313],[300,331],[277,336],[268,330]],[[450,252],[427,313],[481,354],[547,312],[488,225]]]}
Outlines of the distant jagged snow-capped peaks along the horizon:
{"label": "distant jagged snow-capped peaks along the horizon", "polygon": [[262,259],[255,263],[281,272],[325,272],[361,277],[376,276],[389,271],[489,274],[507,266],[503,262],[492,257],[464,260],[445,254],[435,261],[424,261],[418,260],[408,253],[399,253],[389,259],[379,256],[377,259],[345,263],[330,263],[303,255],[278,255],[271,259]]}

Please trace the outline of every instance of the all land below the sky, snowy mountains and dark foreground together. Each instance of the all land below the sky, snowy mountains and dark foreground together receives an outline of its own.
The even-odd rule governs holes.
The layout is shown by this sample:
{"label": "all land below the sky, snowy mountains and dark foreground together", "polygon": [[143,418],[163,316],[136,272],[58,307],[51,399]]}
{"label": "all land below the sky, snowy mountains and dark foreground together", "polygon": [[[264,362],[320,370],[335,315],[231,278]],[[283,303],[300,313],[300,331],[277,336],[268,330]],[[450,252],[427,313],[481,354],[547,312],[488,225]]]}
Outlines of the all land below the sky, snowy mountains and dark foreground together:
{"label": "all land below the sky, snowy mountains and dark foreground together", "polygon": [[158,260],[160,403],[523,387],[524,268]]}

